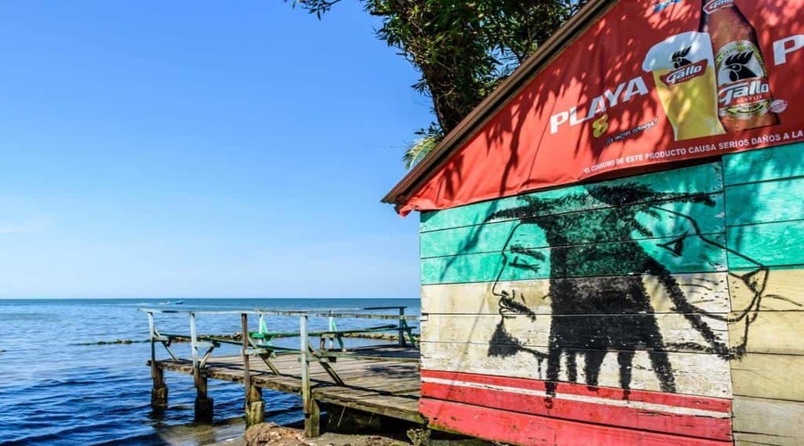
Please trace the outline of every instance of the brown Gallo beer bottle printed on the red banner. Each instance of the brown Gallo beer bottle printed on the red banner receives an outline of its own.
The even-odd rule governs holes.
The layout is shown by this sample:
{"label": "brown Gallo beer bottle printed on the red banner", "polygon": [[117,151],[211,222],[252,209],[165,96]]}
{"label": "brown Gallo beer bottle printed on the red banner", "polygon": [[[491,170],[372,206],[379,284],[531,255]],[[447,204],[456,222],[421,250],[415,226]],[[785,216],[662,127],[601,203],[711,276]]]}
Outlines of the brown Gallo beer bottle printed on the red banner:
{"label": "brown Gallo beer bottle printed on the red banner", "polygon": [[718,115],[725,131],[778,124],[757,32],[735,0],[702,0],[699,31],[712,40]]}

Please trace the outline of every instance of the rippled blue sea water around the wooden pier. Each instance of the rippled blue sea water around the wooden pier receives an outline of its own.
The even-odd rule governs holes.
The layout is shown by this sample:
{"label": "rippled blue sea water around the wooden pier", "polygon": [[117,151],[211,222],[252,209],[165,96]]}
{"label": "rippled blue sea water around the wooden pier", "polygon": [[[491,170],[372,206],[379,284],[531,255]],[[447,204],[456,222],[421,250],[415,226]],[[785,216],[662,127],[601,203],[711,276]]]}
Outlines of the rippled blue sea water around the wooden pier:
{"label": "rippled blue sea water around the wooden pier", "polygon": [[[151,378],[146,361],[150,343],[146,313],[161,310],[358,310],[374,306],[406,306],[420,313],[416,299],[205,299],[163,304],[149,300],[0,300],[0,445],[5,444],[203,444],[220,438],[207,425],[193,423],[195,389],[190,376],[165,372],[169,408],[150,408]],[[393,313],[389,311],[386,314]],[[163,333],[189,334],[187,314],[158,314]],[[297,330],[298,318],[269,317],[272,331]],[[376,319],[338,318],[339,329],[387,323]],[[409,322],[414,325],[415,323]],[[328,326],[327,318],[311,318],[310,329]],[[249,329],[257,318],[249,317]],[[234,334],[238,314],[197,315],[201,335]],[[116,340],[133,343],[98,344]],[[371,343],[349,340],[353,345]],[[278,345],[298,346],[298,338]],[[188,343],[174,344],[182,358]],[[239,354],[224,345],[214,356]],[[157,358],[168,358],[157,344]],[[214,398],[215,432],[242,431],[243,388],[209,381]],[[266,420],[287,424],[302,418],[295,395],[264,391]],[[227,426],[229,426],[227,430]],[[205,435],[207,434],[207,435]]]}

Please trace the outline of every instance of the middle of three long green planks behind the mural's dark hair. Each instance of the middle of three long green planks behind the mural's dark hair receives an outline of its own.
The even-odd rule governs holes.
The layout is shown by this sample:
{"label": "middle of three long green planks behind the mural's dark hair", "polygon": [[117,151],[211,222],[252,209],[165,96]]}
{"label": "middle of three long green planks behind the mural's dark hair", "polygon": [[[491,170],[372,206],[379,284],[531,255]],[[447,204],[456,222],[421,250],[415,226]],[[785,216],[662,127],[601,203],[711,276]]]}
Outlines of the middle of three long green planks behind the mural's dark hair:
{"label": "middle of three long green planks behind the mural's dark hair", "polygon": [[[683,217],[689,216],[689,217]],[[545,223],[564,227],[566,244],[621,242],[683,234],[724,232],[723,194],[708,195],[698,202],[657,202],[622,208],[578,211],[548,217]],[[612,224],[613,220],[623,225]],[[692,221],[698,225],[694,227]],[[640,227],[641,230],[636,230]],[[610,228],[610,229],[607,229]],[[514,235],[514,237],[512,237]],[[421,235],[422,258],[501,252],[509,242],[524,248],[547,248],[545,232],[536,224],[519,220],[456,227]]]}

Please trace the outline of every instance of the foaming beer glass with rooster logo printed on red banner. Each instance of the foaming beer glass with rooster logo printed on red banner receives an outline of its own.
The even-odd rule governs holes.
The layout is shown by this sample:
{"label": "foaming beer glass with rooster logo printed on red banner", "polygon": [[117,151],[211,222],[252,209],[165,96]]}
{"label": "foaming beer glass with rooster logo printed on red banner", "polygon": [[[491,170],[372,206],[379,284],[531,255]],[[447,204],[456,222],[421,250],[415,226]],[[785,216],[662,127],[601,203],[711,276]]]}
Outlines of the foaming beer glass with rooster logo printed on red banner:
{"label": "foaming beer glass with rooster logo printed on red banner", "polygon": [[707,33],[685,32],[653,45],[642,70],[653,73],[676,141],[725,133],[717,115],[715,57]]}

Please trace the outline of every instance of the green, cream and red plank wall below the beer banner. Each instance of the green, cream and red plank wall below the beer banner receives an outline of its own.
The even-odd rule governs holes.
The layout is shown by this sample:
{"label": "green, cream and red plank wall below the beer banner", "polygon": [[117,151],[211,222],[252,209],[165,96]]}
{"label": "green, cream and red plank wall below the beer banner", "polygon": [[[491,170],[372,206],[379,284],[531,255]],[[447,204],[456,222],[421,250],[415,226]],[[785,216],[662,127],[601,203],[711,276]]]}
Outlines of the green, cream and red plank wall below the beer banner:
{"label": "green, cream and red plank wall below the beer banner", "polygon": [[804,145],[422,215],[422,394],[517,444],[804,443]]}

